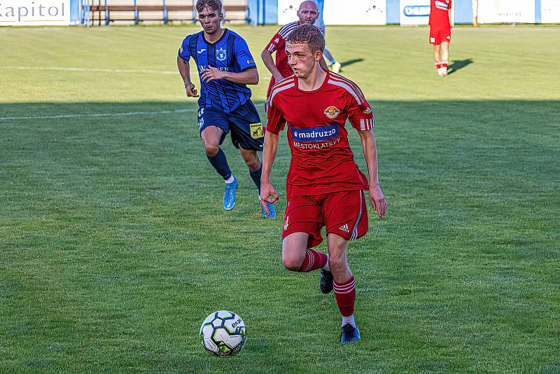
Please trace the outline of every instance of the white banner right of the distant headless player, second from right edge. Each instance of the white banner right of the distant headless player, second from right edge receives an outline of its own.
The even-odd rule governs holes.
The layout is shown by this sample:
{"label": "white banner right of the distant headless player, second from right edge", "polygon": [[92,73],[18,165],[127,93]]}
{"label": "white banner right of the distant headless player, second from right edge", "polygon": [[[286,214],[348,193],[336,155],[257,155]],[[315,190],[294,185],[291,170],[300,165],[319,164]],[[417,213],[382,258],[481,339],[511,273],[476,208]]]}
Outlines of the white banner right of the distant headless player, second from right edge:
{"label": "white banner right of the distant headless player, second from right edge", "polygon": [[479,0],[480,23],[534,23],[535,0]]}

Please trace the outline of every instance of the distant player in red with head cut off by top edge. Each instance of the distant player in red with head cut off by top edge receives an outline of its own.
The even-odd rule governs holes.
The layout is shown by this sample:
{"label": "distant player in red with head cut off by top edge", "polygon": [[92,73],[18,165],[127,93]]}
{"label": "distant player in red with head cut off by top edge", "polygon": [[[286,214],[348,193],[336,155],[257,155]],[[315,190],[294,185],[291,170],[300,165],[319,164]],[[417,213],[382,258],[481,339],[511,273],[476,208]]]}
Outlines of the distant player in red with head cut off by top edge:
{"label": "distant player in red with head cut off by top edge", "polygon": [[451,0],[430,0],[430,44],[439,76],[447,76],[451,41]]}

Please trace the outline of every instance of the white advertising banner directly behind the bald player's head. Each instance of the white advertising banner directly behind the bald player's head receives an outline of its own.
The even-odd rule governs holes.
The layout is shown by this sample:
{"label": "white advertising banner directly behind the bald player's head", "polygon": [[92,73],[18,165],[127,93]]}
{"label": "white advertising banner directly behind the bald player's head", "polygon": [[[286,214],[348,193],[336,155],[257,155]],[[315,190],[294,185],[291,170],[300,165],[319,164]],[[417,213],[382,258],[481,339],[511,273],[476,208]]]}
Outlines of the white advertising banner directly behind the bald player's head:
{"label": "white advertising banner directly behind the bald player's head", "polygon": [[[302,0],[279,0],[279,25],[297,20],[296,12],[301,3]],[[386,3],[386,0],[325,0],[323,21],[325,25],[385,25]]]}

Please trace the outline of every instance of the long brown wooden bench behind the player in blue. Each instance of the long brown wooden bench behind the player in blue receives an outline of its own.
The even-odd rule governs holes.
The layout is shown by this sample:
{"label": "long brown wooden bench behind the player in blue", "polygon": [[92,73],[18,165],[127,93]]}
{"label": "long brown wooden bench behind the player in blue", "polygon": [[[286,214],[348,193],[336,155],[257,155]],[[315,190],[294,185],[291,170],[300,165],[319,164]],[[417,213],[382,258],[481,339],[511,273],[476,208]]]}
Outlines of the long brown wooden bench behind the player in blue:
{"label": "long brown wooden bench behind the player in blue", "polygon": [[[82,15],[85,13],[86,9],[86,6],[82,6]],[[134,25],[138,25],[139,22],[146,20],[159,20],[162,21],[164,25],[169,21],[196,21],[196,11],[191,5],[92,5],[90,6],[90,12],[92,13],[92,23],[96,20],[95,13],[98,14],[97,22],[99,22],[99,25],[101,25],[102,13],[105,25],[109,25],[109,22],[113,21],[134,21]],[[141,13],[143,12],[161,12],[161,16],[153,17],[152,15],[149,18],[142,18]],[[190,18],[173,17],[169,15],[169,12],[172,12],[172,14],[177,12],[190,12],[192,16]],[[228,12],[243,12],[244,18],[239,20],[245,22],[248,20],[248,8],[246,6],[223,6],[224,18],[226,18]],[[84,20],[82,16],[82,24],[83,23]]]}

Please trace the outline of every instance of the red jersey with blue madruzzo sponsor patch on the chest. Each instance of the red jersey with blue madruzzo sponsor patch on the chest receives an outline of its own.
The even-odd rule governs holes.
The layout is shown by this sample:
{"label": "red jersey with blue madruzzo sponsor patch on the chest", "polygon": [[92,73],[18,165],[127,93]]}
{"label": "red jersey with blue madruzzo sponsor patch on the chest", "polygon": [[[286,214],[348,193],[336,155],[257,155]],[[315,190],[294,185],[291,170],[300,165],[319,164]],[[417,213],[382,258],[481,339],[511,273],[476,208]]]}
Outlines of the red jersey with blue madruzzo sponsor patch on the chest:
{"label": "red jersey with blue madruzzo sponsor patch on the chest", "polygon": [[300,90],[295,76],[274,85],[266,128],[278,134],[288,124],[292,153],[286,178],[288,198],[369,189],[353,160],[346,118],[356,130],[372,130],[370,104],[360,88],[343,76],[327,71],[321,87],[313,91]]}

